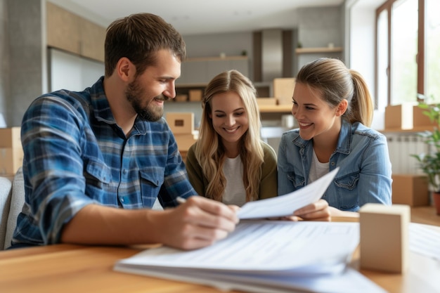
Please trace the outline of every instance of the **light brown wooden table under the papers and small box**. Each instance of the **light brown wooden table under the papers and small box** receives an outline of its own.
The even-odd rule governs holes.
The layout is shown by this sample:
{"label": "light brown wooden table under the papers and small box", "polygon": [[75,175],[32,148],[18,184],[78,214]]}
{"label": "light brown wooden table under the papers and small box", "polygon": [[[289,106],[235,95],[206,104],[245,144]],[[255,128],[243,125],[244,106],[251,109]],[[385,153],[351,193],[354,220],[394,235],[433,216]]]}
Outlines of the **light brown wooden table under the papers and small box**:
{"label": "light brown wooden table under the papers and small box", "polygon": [[[412,211],[413,221],[440,226],[430,207]],[[136,247],[49,245],[0,252],[0,291],[15,292],[143,292],[219,293],[212,287],[112,271],[119,259],[140,251]],[[351,266],[358,269],[358,252]],[[410,254],[410,269],[403,275],[361,270],[390,293],[440,292],[440,262]],[[233,291],[236,292],[236,291]]]}

